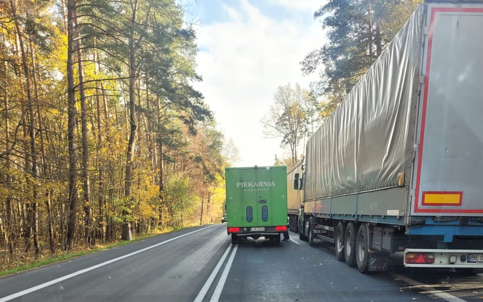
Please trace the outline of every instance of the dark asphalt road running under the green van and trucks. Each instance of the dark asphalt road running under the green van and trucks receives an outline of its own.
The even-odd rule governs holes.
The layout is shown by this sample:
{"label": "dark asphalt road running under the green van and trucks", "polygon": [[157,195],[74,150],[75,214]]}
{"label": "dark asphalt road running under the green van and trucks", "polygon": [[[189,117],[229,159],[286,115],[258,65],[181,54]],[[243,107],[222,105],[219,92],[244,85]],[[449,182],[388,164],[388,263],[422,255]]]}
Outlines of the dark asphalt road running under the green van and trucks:
{"label": "dark asphalt road running under the green van and trucks", "polygon": [[0,279],[3,301],[481,301],[483,277],[392,268],[363,275],[330,244],[244,240],[226,225],[164,234]]}

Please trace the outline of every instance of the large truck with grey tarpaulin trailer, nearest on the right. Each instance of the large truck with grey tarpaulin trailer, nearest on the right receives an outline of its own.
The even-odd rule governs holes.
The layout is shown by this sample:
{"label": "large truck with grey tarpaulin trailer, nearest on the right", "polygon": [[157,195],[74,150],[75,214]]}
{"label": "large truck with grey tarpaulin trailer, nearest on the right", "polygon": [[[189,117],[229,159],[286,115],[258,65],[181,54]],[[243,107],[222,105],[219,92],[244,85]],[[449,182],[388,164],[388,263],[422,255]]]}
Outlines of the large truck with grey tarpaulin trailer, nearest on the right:
{"label": "large truck with grey tarpaulin trailer, nearest on the right", "polygon": [[308,140],[290,180],[301,239],[333,242],[363,273],[396,253],[407,267],[483,267],[482,29],[481,1],[416,9]]}

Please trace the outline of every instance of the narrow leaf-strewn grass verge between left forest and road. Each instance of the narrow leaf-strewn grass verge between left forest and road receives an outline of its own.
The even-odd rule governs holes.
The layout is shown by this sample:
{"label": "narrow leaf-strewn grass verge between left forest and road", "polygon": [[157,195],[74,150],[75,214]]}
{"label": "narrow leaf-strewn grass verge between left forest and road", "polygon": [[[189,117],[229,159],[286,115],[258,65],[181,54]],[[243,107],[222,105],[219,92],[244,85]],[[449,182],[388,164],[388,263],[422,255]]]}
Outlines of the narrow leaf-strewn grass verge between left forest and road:
{"label": "narrow leaf-strewn grass verge between left forest and road", "polygon": [[167,231],[160,232],[160,233],[143,235],[143,236],[136,237],[135,239],[132,239],[131,241],[117,241],[117,242],[112,242],[112,243],[105,244],[105,245],[96,245],[93,248],[92,247],[91,248],[84,247],[84,249],[80,250],[80,251],[64,253],[62,255],[58,255],[58,256],[54,256],[54,257],[48,257],[48,258],[44,258],[44,259],[38,259],[38,260],[34,260],[33,262],[28,263],[28,264],[19,264],[16,267],[12,267],[12,268],[0,271],[0,278],[8,276],[10,274],[19,273],[19,272],[22,272],[22,271],[25,271],[25,270],[38,268],[38,267],[41,267],[41,266],[45,266],[45,265],[48,265],[48,264],[69,260],[69,259],[72,259],[72,258],[75,258],[75,257],[84,256],[84,255],[87,255],[87,254],[92,254],[92,253],[97,253],[97,252],[109,250],[109,249],[112,249],[112,248],[116,248],[117,246],[129,244],[129,243],[136,242],[136,241],[141,241],[141,240],[144,240],[146,238],[150,238],[150,237],[154,237],[154,236],[158,236],[158,235],[162,235],[162,234],[168,234],[168,233],[172,233],[172,232],[175,232],[175,231],[180,231],[180,230],[191,228],[191,227],[194,227],[194,226],[186,226],[186,227],[183,227],[183,228],[167,230]]}

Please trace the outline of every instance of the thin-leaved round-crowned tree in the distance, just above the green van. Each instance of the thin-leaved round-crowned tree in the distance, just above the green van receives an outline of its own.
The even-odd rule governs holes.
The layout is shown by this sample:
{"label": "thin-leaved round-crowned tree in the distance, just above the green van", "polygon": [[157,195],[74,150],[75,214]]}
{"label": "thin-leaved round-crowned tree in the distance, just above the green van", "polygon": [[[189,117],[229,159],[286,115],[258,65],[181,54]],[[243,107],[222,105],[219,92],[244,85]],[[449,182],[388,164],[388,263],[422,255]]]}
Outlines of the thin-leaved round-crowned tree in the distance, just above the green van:
{"label": "thin-leaved round-crowned tree in the distance, just above the green van", "polygon": [[279,86],[274,94],[270,112],[261,120],[266,138],[282,138],[281,146],[288,146],[292,164],[297,161],[297,146],[306,133],[308,91],[296,84]]}

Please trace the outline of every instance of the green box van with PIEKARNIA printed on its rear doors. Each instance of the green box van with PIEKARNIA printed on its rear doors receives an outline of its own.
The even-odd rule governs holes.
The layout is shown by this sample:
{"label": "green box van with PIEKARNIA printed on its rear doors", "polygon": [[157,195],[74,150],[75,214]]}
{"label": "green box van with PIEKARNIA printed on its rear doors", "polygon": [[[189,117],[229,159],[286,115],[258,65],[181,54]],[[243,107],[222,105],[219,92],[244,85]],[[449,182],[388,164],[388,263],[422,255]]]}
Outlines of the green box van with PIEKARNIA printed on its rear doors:
{"label": "green box van with PIEKARNIA printed on its rear doors", "polygon": [[262,236],[280,242],[287,231],[287,168],[226,168],[225,176],[231,242]]}

